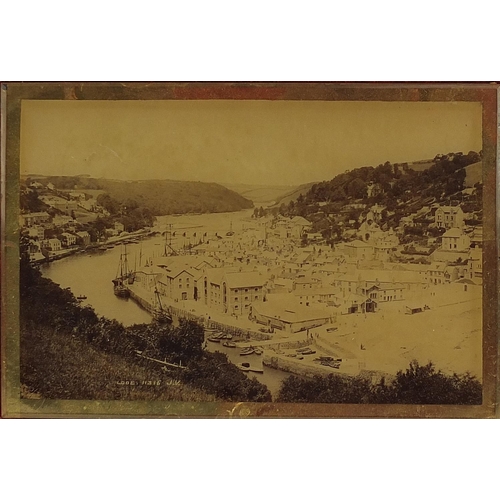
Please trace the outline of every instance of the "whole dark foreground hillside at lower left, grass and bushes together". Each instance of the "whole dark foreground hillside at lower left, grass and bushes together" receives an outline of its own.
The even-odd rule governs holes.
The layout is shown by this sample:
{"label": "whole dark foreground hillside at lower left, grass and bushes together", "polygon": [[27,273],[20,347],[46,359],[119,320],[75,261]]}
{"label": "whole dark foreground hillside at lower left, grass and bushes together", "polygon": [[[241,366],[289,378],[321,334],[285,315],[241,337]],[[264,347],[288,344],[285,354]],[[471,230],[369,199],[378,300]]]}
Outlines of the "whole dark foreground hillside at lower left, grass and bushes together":
{"label": "whole dark foreground hillside at lower left, grass and bushes together", "polygon": [[[203,327],[195,321],[124,327],[43,278],[24,251],[20,284],[21,386],[27,397],[271,400],[265,385],[246,377],[225,355],[203,350]],[[146,357],[184,368],[166,372]]]}

